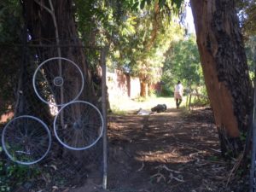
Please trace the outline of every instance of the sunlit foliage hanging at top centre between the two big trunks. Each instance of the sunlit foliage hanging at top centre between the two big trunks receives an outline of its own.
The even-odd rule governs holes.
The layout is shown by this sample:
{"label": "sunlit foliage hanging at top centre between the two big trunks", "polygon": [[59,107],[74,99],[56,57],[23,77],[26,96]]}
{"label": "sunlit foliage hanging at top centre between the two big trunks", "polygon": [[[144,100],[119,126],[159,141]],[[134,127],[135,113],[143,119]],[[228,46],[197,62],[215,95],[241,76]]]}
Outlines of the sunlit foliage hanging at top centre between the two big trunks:
{"label": "sunlit foliage hanging at top centre between the two big trunks", "polygon": [[[177,23],[181,0],[74,0],[79,34],[84,44],[109,47],[108,68],[119,68],[153,83],[160,79],[165,52]],[[160,9],[155,9],[160,6]],[[175,30],[173,30],[175,29]],[[97,49],[86,53],[96,67]]]}

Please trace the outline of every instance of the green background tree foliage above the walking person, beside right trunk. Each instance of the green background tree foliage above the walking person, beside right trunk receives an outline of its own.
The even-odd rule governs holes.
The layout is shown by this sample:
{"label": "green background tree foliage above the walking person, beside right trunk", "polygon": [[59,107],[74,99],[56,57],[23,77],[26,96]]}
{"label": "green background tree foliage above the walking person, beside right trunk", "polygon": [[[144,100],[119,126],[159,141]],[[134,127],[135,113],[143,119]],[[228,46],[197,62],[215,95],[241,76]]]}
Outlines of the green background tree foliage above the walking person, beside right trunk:
{"label": "green background tree foliage above the walking person, beside right trunk", "polygon": [[188,91],[196,90],[204,85],[201,63],[195,36],[190,35],[184,40],[172,42],[166,53],[162,81],[165,89],[173,91],[177,80],[181,80]]}

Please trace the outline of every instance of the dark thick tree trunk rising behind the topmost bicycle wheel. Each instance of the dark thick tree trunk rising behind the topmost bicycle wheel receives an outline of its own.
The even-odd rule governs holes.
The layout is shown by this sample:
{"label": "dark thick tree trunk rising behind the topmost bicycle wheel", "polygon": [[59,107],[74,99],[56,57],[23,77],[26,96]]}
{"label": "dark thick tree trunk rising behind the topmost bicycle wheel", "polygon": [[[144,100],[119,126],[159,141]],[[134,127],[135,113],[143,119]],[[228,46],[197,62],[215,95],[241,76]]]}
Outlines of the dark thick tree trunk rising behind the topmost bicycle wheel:
{"label": "dark thick tree trunk rising behind the topmost bicycle wheel", "polygon": [[[84,49],[74,20],[73,1],[51,1],[56,22],[47,10],[51,7],[49,2],[49,0],[27,0],[22,3],[28,30],[32,36],[32,44],[42,44],[42,47],[38,48],[38,59],[42,62],[61,55],[74,61],[84,73],[84,91],[79,99],[95,102],[96,93],[91,84],[91,73],[85,61]],[[58,37],[56,37],[56,30]],[[76,78],[78,77],[71,72],[70,79]],[[78,90],[80,86],[73,89]]]}

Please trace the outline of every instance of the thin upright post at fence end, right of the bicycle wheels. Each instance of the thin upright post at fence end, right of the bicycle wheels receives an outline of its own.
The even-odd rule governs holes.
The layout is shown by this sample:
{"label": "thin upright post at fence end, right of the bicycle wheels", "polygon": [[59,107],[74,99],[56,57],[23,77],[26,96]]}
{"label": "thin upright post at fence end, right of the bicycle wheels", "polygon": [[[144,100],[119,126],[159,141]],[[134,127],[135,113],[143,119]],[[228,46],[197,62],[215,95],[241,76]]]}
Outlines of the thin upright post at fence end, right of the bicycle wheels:
{"label": "thin upright post at fence end, right of the bicycle wheels", "polygon": [[103,178],[102,188],[107,189],[108,176],[108,130],[107,130],[107,84],[106,84],[106,48],[101,50],[102,65],[102,117],[103,117]]}

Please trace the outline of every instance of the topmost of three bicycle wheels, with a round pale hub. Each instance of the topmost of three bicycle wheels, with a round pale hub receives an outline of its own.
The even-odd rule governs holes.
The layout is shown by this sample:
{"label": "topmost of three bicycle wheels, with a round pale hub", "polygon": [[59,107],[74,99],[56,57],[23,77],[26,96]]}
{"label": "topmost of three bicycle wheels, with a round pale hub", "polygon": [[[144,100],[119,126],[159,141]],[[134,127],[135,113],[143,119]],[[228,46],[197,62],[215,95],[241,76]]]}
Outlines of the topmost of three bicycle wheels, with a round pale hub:
{"label": "topmost of three bicycle wheels, with a round pale hub", "polygon": [[42,102],[62,106],[79,98],[84,89],[84,75],[73,61],[52,57],[38,66],[32,84]]}

